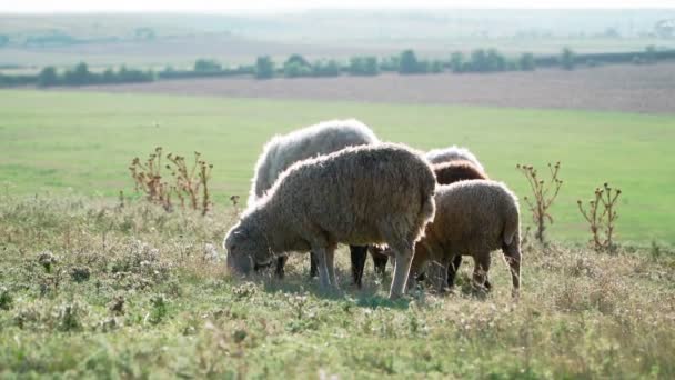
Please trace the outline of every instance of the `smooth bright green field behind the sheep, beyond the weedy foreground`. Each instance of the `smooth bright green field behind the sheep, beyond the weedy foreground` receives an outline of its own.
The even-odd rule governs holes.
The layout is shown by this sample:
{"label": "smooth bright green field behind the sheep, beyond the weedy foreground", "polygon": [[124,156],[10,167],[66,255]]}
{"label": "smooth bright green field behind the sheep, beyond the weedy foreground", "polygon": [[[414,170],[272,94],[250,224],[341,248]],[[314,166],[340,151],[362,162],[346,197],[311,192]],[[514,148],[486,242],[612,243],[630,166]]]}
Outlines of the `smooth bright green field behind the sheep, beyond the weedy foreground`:
{"label": "smooth bright green field behind the sheep, beyond the weedy foreground", "polygon": [[[419,149],[470,147],[488,174],[527,194],[516,163],[562,162],[554,238],[584,241],[577,199],[608,181],[623,190],[618,239],[675,243],[675,117],[570,110],[363,104],[78,92],[0,91],[0,184],[43,191],[131,193],[128,166],[154,147],[212,162],[221,206],[245,197],[262,144],[274,133],[355,117],[384,140]],[[523,210],[524,214],[527,214]]]}

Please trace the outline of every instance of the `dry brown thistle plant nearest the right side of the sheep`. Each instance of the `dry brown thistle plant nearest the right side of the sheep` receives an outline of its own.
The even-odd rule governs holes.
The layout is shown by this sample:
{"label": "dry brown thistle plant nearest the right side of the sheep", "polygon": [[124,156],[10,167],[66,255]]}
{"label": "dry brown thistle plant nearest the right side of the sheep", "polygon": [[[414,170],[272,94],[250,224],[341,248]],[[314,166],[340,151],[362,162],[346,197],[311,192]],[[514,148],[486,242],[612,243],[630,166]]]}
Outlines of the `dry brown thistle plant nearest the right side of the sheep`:
{"label": "dry brown thistle plant nearest the right side of the sheep", "polygon": [[532,212],[532,219],[534,220],[536,231],[534,237],[543,243],[545,241],[544,232],[546,231],[546,222],[553,223],[553,217],[548,212],[548,209],[553,204],[553,201],[557,197],[563,181],[557,177],[561,169],[561,163],[555,164],[548,163],[548,171],[551,178],[545,181],[538,177],[536,169],[527,164],[517,164],[518,169],[527,179],[530,189],[532,190],[533,198],[523,197],[530,211]]}

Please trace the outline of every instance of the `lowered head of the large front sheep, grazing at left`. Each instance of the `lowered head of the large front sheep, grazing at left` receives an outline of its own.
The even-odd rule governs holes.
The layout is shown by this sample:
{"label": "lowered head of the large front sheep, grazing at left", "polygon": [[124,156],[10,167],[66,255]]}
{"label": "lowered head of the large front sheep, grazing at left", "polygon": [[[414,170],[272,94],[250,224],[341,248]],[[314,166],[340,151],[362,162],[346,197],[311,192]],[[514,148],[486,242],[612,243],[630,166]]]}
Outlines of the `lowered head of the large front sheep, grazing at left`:
{"label": "lowered head of the large front sheep, grazing at left", "polygon": [[225,236],[228,267],[241,274],[269,266],[273,257],[266,240],[258,229],[239,222]]}

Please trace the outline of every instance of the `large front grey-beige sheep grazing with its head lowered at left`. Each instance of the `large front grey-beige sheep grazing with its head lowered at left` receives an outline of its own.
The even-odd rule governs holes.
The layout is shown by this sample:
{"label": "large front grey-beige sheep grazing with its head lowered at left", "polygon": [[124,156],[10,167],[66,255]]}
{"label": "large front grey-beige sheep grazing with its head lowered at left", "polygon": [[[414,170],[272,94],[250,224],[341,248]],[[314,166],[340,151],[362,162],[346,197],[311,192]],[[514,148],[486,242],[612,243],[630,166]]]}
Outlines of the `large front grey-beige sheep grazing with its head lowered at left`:
{"label": "large front grey-beige sheep grazing with its head lowered at left", "polygon": [[338,243],[387,243],[397,264],[390,298],[405,291],[415,241],[435,212],[429,162],[393,143],[350,147],[296,162],[225,236],[228,267],[248,273],[290,251],[312,251],[321,288],[338,288]]}

